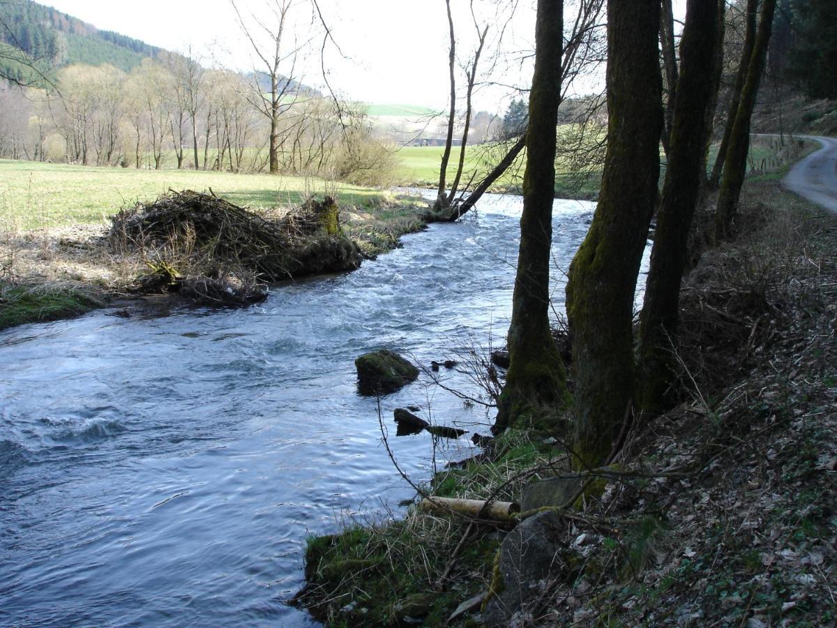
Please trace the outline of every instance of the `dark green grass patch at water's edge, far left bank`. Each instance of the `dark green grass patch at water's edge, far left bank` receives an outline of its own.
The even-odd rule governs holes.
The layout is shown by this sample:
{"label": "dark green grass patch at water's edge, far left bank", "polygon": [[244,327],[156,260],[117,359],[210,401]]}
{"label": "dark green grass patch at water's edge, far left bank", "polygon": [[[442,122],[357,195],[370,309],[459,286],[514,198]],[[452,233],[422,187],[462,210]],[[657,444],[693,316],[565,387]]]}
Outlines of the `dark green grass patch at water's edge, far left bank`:
{"label": "dark green grass patch at water's edge, far left bank", "polygon": [[103,305],[99,297],[75,286],[0,284],[0,330],[77,317]]}

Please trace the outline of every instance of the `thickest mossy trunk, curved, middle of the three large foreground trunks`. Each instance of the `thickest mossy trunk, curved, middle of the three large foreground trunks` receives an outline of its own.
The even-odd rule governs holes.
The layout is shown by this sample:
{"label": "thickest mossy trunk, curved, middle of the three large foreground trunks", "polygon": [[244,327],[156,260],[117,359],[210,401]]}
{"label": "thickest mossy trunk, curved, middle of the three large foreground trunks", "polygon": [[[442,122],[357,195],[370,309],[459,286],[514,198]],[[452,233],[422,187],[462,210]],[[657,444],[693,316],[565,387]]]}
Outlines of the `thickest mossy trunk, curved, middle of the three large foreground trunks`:
{"label": "thickest mossy trunk, curved, middle of the three large foreground trunks", "polygon": [[659,27],[659,0],[608,3],[608,148],[593,224],[567,282],[582,465],[608,456],[634,394],[634,290],[660,177]]}

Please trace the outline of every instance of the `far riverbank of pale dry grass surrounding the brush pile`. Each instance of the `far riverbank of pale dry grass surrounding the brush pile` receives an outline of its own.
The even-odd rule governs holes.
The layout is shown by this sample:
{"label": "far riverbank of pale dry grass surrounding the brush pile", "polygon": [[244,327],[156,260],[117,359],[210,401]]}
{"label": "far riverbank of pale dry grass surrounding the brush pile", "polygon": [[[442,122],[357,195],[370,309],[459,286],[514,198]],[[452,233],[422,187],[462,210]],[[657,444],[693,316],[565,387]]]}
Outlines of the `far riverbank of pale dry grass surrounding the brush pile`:
{"label": "far riverbank of pale dry grass surrounding the brush pile", "polygon": [[[269,208],[255,209],[250,214],[257,219],[275,220],[292,211],[291,208]],[[428,207],[420,198],[379,193],[375,198],[367,198],[363,205],[341,205],[336,215],[339,227],[335,224],[335,231],[329,237],[344,242],[343,248],[354,249],[352,256],[357,260],[348,260],[340,266],[350,269],[359,265],[362,259],[374,258],[397,247],[403,234],[424,229],[429,219]],[[166,264],[171,265],[169,260],[179,255],[186,264],[185,255],[167,250],[161,257],[161,249],[172,247],[161,247],[159,243],[149,243],[139,249],[126,247],[124,242],[115,246],[111,236],[111,227],[105,224],[4,230],[0,238],[0,330],[29,322],[75,317],[105,306],[117,306],[121,308],[121,316],[131,316],[140,311],[211,304],[206,299],[185,296],[186,291],[162,291],[166,302],[161,302],[159,295],[142,294],[149,292],[141,290],[139,284],[150,275],[150,262],[153,265],[159,261],[157,258],[166,258]],[[296,234],[287,255],[298,260],[307,245],[320,239],[320,235],[314,233]],[[318,249],[320,253],[321,249]],[[336,253],[342,254],[343,250]],[[210,265],[216,261],[223,262],[202,260]],[[296,268],[297,265],[295,270],[283,273],[273,281],[328,271],[310,269],[311,272],[307,272],[301,266]],[[165,268],[160,266],[151,270],[154,275]],[[180,269],[172,271],[182,272]],[[254,282],[258,278],[248,274],[246,281],[251,280]],[[245,287],[249,290],[253,286]],[[244,291],[241,301],[244,303],[250,297]],[[219,304],[228,303],[219,301]]]}

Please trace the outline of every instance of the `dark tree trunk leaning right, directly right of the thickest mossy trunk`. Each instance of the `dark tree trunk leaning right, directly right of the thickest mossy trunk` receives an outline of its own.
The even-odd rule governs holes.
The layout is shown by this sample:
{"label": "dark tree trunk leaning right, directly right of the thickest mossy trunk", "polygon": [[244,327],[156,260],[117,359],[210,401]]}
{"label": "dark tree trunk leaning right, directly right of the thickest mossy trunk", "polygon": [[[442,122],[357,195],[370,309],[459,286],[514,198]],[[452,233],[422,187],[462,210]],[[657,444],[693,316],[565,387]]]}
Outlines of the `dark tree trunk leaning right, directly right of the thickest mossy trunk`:
{"label": "dark tree trunk leaning right, directly right of the thickest mossy trunk", "polygon": [[670,383],[669,337],[676,332],[680,280],[686,267],[691,220],[695,214],[706,146],[706,108],[711,100],[712,58],[716,49],[718,3],[689,0],[680,43],[680,80],[672,116],[668,169],[651,268],[640,318],[639,408],[662,408]]}

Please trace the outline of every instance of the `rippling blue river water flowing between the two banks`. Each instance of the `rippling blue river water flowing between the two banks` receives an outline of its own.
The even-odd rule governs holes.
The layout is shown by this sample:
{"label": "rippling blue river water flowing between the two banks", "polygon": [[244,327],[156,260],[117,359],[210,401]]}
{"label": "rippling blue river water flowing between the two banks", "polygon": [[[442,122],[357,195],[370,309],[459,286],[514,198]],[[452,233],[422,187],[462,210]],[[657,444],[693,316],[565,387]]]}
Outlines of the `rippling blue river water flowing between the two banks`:
{"label": "rippling blue river water flowing between the two banks", "polygon": [[[556,201],[559,268],[592,210]],[[501,345],[520,212],[520,198],[487,197],[356,272],[277,286],[249,309],[105,310],[0,333],[0,624],[313,624],[286,605],[306,538],[397,515],[413,495],[354,358],[389,347],[429,365]],[[477,393],[456,369],[439,375]],[[491,422],[427,375],[383,398],[393,454],[417,480],[433,446],[394,437],[408,404],[483,434]],[[469,452],[466,436],[437,455]]]}

